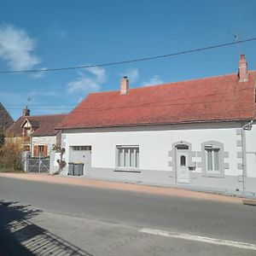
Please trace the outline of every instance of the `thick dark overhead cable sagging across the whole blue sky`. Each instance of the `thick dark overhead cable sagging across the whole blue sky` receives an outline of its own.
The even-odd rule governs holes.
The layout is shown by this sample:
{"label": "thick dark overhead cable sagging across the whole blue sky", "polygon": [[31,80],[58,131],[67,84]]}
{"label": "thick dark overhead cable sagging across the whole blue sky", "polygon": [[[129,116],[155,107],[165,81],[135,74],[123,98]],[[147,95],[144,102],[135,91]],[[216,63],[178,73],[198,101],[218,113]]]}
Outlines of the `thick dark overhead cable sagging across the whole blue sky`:
{"label": "thick dark overhead cable sagging across the whole blue sky", "polygon": [[255,40],[256,40],[256,38],[247,38],[244,40],[239,40],[239,41],[237,40],[236,42],[230,42],[230,43],[225,43],[225,44],[216,44],[216,45],[211,45],[211,46],[198,48],[198,49],[188,49],[188,50],[178,51],[176,53],[171,53],[171,54],[166,54],[166,55],[156,55],[156,56],[150,56],[150,57],[145,57],[145,58],[127,60],[127,61],[116,61],[116,62],[100,63],[100,64],[78,66],[78,67],[59,67],[59,68],[13,70],[13,71],[6,70],[6,71],[0,71],[0,73],[38,73],[38,72],[65,71],[65,70],[82,69],[82,68],[89,68],[89,67],[108,67],[108,66],[121,65],[121,64],[127,64],[127,63],[139,62],[139,61],[151,61],[151,60],[156,60],[156,59],[160,59],[160,58],[172,57],[175,55],[184,55],[184,54],[194,53],[194,52],[198,52],[198,51],[202,51],[202,50],[216,49],[216,48],[220,48],[220,47],[224,47],[224,46],[246,43],[246,42],[255,41]]}

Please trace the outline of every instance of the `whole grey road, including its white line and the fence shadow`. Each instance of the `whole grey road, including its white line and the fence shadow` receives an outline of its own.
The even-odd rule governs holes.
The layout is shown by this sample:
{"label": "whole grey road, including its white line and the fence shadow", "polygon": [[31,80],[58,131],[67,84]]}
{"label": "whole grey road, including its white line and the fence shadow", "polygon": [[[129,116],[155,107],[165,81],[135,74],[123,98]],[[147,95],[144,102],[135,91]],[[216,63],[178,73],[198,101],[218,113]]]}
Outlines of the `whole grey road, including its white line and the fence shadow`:
{"label": "whole grey road, including its white line and the fence shadow", "polygon": [[256,207],[8,177],[0,195],[2,230],[36,255],[256,255]]}

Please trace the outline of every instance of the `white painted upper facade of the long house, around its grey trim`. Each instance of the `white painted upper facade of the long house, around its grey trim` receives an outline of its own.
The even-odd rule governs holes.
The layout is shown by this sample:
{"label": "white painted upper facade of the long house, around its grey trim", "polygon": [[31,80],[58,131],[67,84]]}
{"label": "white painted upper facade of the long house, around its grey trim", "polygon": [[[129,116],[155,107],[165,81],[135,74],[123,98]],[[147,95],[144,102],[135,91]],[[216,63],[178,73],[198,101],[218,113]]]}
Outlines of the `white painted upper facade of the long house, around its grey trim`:
{"label": "white painted upper facade of the long house, around its grey trim", "polygon": [[[224,143],[224,151],[230,154],[229,158],[225,159],[230,165],[229,169],[225,169],[225,175],[241,175],[241,170],[237,170],[237,163],[241,162],[241,159],[237,159],[237,151],[241,151],[241,148],[236,147],[236,141],[240,139],[236,135],[238,127],[241,125],[226,123],[95,129],[73,133],[64,131],[65,158],[68,162],[70,146],[91,145],[92,167],[115,168],[116,145],[139,145],[139,169],[172,171],[172,166],[168,166],[168,161],[172,160],[168,156],[172,143],[186,141],[192,144],[192,151],[201,151],[201,143],[213,140]],[[196,157],[192,159],[197,160]],[[197,167],[196,172],[201,172],[201,168]]]}

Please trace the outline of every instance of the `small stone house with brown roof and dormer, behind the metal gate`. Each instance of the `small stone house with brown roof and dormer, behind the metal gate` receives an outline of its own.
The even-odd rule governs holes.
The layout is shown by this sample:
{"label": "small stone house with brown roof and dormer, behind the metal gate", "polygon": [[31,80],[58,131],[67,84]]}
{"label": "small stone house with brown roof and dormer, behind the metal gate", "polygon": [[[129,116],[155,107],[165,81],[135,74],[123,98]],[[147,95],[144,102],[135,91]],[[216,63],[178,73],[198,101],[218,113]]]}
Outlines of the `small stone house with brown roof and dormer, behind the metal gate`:
{"label": "small stone house with brown roof and dormer, behind the metal gate", "polygon": [[30,110],[25,108],[10,131],[22,140],[23,148],[33,157],[49,156],[53,147],[61,144],[61,134],[55,126],[64,117],[66,114],[30,115]]}

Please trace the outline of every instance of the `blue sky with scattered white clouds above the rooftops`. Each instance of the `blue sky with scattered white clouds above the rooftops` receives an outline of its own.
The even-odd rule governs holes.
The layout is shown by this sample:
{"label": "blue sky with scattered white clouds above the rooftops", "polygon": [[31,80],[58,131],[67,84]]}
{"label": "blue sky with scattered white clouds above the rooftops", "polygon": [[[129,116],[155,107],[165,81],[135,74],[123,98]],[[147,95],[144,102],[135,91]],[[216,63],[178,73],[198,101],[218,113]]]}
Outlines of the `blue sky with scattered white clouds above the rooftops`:
{"label": "blue sky with scattered white clouds above the rooftops", "polygon": [[[256,38],[255,0],[0,0],[0,71],[78,67],[172,54]],[[256,69],[256,41],[111,67],[0,73],[0,102],[14,119],[68,113],[91,92]]]}

